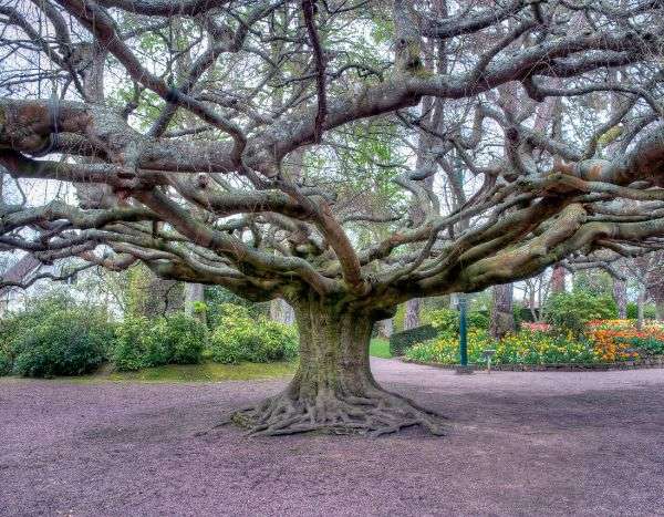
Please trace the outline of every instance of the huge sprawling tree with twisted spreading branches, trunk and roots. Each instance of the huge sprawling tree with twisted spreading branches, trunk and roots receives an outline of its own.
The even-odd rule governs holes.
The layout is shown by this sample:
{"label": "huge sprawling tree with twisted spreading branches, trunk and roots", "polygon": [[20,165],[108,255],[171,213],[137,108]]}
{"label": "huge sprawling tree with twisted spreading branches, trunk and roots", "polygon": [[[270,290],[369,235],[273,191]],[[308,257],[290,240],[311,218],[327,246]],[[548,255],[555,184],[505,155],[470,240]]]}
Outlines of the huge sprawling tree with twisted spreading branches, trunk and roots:
{"label": "huge sprawling tree with twisted spreading branches, trunk and roots", "polygon": [[52,196],[2,198],[0,249],[288,301],[300,366],[236,415],[255,433],[439,433],[373,379],[375,321],[664,235],[661,1],[21,0],[0,17],[3,180]]}

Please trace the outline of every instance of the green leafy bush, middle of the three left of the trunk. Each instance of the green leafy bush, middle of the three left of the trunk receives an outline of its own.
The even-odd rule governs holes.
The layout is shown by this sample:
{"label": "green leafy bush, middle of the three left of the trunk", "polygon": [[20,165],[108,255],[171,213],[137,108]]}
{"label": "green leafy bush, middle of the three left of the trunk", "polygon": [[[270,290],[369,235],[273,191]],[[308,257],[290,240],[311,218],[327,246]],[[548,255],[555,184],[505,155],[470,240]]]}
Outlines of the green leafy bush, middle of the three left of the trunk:
{"label": "green leafy bush, middle of the three left of the trunk", "polygon": [[195,364],[200,362],[206,343],[206,327],[183,313],[156,320],[128,316],[118,325],[111,359],[120,371]]}

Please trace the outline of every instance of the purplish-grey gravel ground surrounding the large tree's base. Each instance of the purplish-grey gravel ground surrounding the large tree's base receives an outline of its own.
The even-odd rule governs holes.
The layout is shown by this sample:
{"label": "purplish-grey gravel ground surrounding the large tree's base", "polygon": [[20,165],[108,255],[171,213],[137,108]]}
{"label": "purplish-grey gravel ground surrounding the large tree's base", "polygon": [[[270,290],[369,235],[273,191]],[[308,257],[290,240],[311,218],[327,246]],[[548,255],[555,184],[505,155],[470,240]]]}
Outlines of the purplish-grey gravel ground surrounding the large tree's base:
{"label": "purplish-grey gravel ground surrounding the large tree's base", "polygon": [[664,515],[664,370],[373,360],[447,436],[204,436],[286,380],[0,381],[1,515]]}

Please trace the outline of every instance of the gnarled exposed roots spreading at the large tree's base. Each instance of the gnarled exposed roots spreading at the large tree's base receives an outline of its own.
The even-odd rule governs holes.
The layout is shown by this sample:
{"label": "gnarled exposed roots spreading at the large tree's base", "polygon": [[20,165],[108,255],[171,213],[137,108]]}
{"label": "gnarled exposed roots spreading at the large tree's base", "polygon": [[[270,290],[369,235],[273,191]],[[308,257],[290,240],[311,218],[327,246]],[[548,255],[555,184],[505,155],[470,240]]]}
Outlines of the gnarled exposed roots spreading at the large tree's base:
{"label": "gnarled exposed roots spreading at the large tree's base", "polygon": [[231,421],[251,436],[323,432],[381,436],[421,425],[443,435],[443,416],[418,407],[408,399],[382,390],[366,396],[321,394],[314,401],[293,400],[286,393],[232,414]]}

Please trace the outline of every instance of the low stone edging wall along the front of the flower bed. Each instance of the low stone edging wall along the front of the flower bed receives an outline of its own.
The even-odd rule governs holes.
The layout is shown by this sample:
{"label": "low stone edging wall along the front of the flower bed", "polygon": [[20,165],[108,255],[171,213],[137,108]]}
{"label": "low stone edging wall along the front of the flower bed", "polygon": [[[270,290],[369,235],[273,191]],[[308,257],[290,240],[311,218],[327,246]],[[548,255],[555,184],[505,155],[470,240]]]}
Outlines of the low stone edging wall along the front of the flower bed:
{"label": "low stone edging wall along the front of the flower bed", "polygon": [[[458,364],[440,364],[424,361],[412,361],[401,358],[405,363],[423,364],[425,366],[442,368],[444,370],[456,370]],[[483,371],[485,364],[470,364],[469,369]],[[491,371],[498,372],[582,372],[589,370],[635,370],[647,368],[664,368],[664,356],[640,359],[637,361],[621,361],[615,363],[551,363],[551,364],[492,364]]]}

